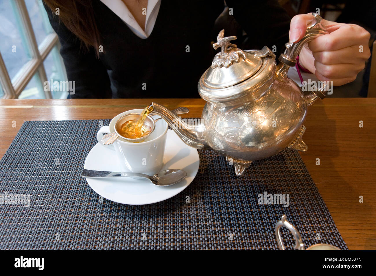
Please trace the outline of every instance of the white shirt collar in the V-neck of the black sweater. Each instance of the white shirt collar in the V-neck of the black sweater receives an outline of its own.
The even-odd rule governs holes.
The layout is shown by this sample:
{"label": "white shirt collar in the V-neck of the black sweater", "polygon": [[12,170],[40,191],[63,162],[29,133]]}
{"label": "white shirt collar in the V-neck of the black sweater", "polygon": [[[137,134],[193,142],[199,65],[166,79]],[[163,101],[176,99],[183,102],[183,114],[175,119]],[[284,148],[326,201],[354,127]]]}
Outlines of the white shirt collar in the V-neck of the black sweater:
{"label": "white shirt collar in the V-neck of the black sweater", "polygon": [[148,0],[146,8],[145,30],[143,30],[133,15],[130,13],[127,6],[121,0],[100,0],[105,4],[114,14],[121,18],[132,32],[139,38],[146,39],[152,33],[161,0]]}

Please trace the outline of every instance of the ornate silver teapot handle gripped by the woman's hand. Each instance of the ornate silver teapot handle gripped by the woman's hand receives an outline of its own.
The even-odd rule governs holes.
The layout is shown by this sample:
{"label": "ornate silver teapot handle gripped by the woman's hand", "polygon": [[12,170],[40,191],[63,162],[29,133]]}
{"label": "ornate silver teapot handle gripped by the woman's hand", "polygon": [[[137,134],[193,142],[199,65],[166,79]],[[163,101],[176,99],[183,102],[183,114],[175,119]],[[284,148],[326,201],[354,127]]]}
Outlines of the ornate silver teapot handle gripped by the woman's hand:
{"label": "ornate silver teapot handle gripped by the woman's hand", "polygon": [[[303,46],[308,43],[309,41],[315,39],[319,35],[325,35],[328,32],[321,24],[323,18],[316,13],[312,13],[314,20],[310,26],[307,27],[306,33],[303,38],[294,43],[286,43],[286,50],[285,53],[281,54],[278,58],[280,63],[277,65],[276,68],[276,77],[282,81],[288,81],[287,78],[287,71],[291,66],[295,66],[296,64],[296,57],[299,55],[300,51],[302,50]],[[315,103],[318,98],[323,99],[326,97],[325,90],[326,90],[326,83],[323,86],[317,87],[316,91],[312,91],[311,94],[307,95],[307,104],[311,106]]]}

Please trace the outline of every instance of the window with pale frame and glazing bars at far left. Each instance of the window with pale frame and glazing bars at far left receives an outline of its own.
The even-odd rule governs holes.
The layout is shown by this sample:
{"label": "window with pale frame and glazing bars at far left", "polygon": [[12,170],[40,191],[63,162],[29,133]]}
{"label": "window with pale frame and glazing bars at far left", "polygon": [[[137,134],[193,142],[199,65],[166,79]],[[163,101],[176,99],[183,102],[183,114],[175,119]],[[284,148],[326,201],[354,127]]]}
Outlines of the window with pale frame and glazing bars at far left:
{"label": "window with pale frame and glazing bars at far left", "polygon": [[45,89],[67,81],[59,47],[41,0],[0,0],[0,98],[67,98]]}

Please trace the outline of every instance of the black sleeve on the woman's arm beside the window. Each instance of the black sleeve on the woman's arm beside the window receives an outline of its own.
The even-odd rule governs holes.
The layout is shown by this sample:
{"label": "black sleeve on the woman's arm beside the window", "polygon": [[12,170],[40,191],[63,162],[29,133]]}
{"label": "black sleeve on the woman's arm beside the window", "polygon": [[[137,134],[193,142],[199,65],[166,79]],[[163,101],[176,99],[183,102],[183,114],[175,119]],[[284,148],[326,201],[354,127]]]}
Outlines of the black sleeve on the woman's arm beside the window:
{"label": "black sleeve on the woman's arm beside the window", "polygon": [[59,36],[60,54],[64,59],[69,81],[75,81],[75,94],[71,98],[112,98],[111,83],[103,63],[96,57],[94,49],[81,47],[77,38],[64,24],[59,22],[58,15],[44,4],[52,28]]}

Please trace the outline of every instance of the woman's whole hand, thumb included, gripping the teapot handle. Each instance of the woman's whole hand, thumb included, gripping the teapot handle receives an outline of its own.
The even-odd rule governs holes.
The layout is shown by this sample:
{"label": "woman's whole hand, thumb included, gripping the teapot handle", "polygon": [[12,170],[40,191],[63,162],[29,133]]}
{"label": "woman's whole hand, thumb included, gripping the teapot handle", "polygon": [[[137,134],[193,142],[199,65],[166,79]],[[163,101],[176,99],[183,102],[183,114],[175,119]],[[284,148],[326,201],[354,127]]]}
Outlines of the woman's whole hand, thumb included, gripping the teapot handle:
{"label": "woman's whole hand, thumb included, gripping the teapot handle", "polygon": [[[290,42],[303,38],[312,14],[300,14],[291,19]],[[322,20],[328,34],[308,42],[299,54],[299,64],[321,81],[333,81],[339,86],[355,80],[370,57],[370,33],[355,24]]]}

